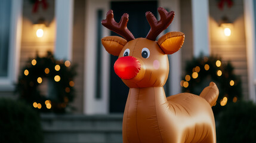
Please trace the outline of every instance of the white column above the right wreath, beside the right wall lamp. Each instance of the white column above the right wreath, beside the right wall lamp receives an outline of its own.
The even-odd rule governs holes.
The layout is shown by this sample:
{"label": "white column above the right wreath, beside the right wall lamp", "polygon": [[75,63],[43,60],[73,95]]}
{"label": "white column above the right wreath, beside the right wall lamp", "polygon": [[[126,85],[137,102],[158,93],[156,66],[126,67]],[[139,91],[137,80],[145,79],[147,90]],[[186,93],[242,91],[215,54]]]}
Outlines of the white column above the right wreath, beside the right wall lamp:
{"label": "white column above the right wreath, beside the right wall lamp", "polygon": [[192,0],[193,55],[209,55],[208,0]]}

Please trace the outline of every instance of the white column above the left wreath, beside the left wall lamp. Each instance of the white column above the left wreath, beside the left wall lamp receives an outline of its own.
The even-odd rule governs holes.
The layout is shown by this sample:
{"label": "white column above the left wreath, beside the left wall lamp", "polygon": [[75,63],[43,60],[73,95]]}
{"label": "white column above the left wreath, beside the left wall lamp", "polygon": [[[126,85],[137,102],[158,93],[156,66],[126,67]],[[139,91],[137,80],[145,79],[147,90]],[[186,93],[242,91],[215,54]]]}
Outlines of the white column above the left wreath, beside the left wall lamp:
{"label": "white column above the left wreath, beside the left wall lamp", "polygon": [[56,40],[54,55],[57,59],[71,60],[73,34],[73,0],[55,1]]}

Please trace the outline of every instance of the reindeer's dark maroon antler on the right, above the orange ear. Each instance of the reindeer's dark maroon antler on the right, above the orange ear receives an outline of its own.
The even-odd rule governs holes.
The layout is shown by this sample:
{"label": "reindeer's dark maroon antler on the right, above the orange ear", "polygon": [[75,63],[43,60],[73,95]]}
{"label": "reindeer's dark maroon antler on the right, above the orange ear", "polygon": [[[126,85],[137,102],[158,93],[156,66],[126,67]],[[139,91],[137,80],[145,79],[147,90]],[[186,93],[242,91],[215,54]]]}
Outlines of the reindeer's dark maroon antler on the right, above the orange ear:
{"label": "reindeer's dark maroon antler on the right, above the orange ear", "polygon": [[147,34],[147,39],[150,39],[152,41],[155,41],[156,37],[165,29],[168,28],[169,24],[171,24],[173,18],[174,18],[174,11],[171,11],[168,13],[164,8],[159,7],[158,13],[160,15],[160,20],[156,20],[156,17],[154,14],[152,14],[150,11],[147,11],[146,18],[147,21],[150,24],[151,29],[149,30],[149,33]]}

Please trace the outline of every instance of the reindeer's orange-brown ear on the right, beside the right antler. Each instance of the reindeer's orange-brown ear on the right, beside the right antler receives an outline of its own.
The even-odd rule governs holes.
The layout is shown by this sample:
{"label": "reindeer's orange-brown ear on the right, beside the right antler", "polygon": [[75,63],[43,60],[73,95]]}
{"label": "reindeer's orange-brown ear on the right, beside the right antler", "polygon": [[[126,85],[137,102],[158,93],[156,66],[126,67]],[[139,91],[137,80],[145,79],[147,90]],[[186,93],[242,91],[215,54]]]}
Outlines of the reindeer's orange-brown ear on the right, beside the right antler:
{"label": "reindeer's orange-brown ear on the right, beside the right antler", "polygon": [[168,32],[158,39],[158,45],[165,54],[177,52],[183,45],[185,35],[182,32]]}

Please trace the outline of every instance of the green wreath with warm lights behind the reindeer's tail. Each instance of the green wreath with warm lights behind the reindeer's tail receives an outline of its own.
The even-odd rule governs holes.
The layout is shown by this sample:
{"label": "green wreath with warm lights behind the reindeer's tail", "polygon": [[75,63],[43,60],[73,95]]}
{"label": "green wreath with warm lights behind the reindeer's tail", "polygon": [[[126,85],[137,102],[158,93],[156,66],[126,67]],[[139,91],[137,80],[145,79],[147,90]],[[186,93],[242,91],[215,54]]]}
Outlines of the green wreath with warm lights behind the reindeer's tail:
{"label": "green wreath with warm lights behind the reindeer's tail", "polygon": [[233,70],[230,62],[223,63],[219,57],[193,58],[187,62],[186,73],[180,84],[183,86],[183,92],[199,95],[210,82],[215,82],[220,94],[212,110],[217,115],[231,102],[236,102],[242,97],[241,80]]}

